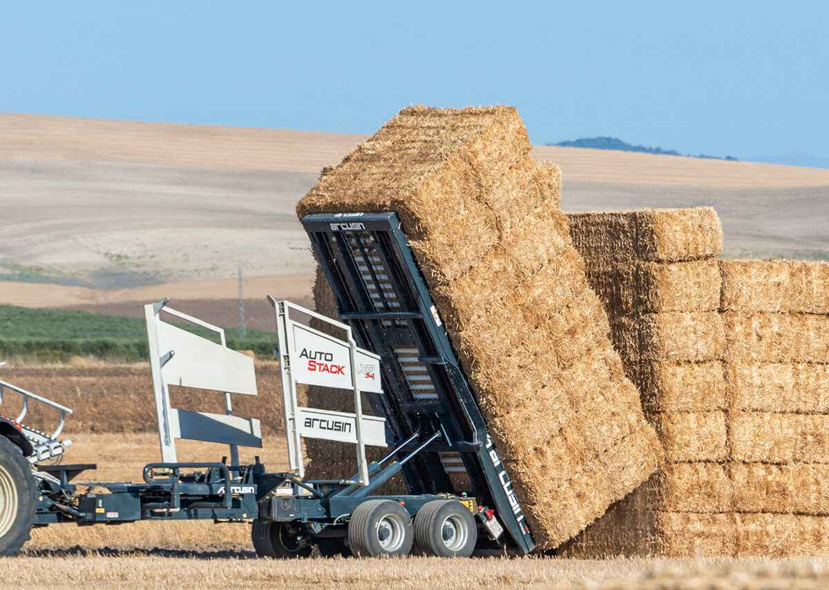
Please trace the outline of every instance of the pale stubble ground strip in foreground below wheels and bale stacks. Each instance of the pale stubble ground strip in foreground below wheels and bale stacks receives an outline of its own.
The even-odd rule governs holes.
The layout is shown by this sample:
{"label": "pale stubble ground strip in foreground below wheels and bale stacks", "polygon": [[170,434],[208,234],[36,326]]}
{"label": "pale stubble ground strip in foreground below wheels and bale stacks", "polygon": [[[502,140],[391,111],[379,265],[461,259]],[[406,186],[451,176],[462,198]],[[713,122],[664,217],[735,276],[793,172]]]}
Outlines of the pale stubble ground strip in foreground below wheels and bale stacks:
{"label": "pale stubble ground strip in foreground below wheels and bale stacks", "polygon": [[[61,588],[228,588],[279,585],[313,590],[371,588],[538,588],[541,590],[820,590],[822,559],[305,559],[280,562],[221,552],[44,552],[0,559],[0,575],[28,588],[44,578]],[[332,567],[333,566],[333,567]],[[5,572],[5,573],[4,573]]]}

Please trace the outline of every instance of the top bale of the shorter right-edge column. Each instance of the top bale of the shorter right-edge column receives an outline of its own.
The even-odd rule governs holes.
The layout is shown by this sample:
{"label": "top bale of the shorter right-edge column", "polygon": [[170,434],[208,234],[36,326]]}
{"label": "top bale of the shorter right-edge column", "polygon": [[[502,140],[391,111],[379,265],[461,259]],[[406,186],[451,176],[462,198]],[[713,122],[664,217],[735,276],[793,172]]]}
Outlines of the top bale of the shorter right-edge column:
{"label": "top bale of the shorter right-edge column", "polygon": [[723,309],[829,314],[829,264],[802,260],[722,260]]}

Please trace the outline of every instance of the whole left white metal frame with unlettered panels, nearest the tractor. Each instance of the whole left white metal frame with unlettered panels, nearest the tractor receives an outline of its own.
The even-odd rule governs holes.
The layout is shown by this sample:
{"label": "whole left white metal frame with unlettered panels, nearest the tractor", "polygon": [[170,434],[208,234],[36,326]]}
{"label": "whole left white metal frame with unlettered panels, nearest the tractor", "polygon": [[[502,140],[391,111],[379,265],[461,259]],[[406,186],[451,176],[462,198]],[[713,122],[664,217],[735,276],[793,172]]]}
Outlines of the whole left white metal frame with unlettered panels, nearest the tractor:
{"label": "whole left white metal frame with unlettered panels, nearest the tractor", "polygon": [[[235,416],[230,399],[231,392],[257,394],[253,359],[227,348],[225,331],[221,327],[167,307],[167,302],[168,299],[162,299],[144,306],[162,461],[177,462],[175,439],[190,438],[228,444],[231,465],[239,465],[240,446],[262,447],[259,420]],[[216,332],[221,344],[162,322],[162,312]],[[176,351],[171,346],[182,346],[184,350],[180,348]],[[165,370],[165,366],[171,362],[173,364]],[[172,408],[169,390],[171,384],[224,391],[225,414]]]}

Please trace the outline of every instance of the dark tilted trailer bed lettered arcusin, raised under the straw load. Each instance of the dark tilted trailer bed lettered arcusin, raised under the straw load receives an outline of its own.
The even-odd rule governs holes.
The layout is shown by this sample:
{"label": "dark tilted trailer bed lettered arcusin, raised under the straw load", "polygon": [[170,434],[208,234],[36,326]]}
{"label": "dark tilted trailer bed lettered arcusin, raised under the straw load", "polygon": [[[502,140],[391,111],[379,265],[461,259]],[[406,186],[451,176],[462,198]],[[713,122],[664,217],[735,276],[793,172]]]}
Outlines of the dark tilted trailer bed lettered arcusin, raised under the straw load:
{"label": "dark tilted trailer bed lettered arcusin, raised under the straw load", "polygon": [[512,543],[529,553],[535,544],[510,476],[397,215],[307,215],[302,223],[340,319],[351,325],[357,346],[381,355],[386,394],[371,401],[386,418],[387,438],[441,433],[405,465],[410,493],[471,493],[496,510]]}

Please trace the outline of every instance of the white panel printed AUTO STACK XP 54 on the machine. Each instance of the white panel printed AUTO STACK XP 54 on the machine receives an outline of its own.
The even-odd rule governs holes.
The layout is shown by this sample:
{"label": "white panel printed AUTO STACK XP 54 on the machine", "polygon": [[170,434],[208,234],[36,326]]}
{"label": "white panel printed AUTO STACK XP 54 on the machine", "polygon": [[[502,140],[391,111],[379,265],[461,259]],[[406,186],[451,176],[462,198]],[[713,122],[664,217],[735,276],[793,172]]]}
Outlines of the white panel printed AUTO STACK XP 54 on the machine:
{"label": "white panel printed AUTO STACK XP 54 on the machine", "polygon": [[[293,379],[298,383],[322,387],[354,389],[351,383],[350,349],[347,343],[308,326],[289,323],[293,331]],[[376,394],[383,393],[380,356],[358,348],[355,365],[358,389]]]}

